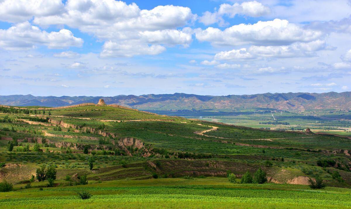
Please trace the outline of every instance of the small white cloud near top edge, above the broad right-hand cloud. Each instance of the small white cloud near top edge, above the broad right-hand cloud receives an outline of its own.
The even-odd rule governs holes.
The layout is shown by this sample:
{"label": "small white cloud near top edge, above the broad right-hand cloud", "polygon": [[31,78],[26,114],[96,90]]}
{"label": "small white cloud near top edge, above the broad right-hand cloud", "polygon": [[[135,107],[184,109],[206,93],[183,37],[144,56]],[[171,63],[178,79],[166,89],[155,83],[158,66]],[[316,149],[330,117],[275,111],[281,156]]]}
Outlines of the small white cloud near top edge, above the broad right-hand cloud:
{"label": "small white cloud near top edge, above the broad right-hand cloud", "polygon": [[267,15],[271,12],[270,8],[264,6],[257,1],[247,1],[241,4],[235,3],[230,4],[221,4],[218,11],[213,13],[204,12],[203,15],[199,18],[199,21],[204,23],[204,25],[211,25],[213,23],[218,23],[220,26],[225,26],[227,23],[224,21],[223,16],[229,16],[234,18],[235,15],[245,15],[251,17],[259,17]]}

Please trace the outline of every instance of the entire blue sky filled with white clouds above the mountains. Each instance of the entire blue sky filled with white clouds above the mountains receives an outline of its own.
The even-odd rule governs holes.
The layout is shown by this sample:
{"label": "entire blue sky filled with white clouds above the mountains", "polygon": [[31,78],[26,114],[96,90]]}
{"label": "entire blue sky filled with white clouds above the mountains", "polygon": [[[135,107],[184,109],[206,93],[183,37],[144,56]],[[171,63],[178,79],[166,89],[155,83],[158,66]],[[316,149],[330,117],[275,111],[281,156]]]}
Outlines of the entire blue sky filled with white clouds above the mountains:
{"label": "entire blue sky filled with white clouds above the mountains", "polygon": [[0,95],[345,92],[350,0],[0,0]]}

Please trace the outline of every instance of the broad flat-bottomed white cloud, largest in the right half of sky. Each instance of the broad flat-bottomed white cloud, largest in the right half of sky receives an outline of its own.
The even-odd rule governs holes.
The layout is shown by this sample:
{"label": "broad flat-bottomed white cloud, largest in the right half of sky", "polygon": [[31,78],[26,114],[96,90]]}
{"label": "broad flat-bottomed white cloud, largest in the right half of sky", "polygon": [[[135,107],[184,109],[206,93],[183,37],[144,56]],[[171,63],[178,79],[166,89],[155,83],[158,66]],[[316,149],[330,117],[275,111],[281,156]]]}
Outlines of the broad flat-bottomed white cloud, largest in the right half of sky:
{"label": "broad flat-bottomed white cloud, largest in the right half of sky", "polygon": [[258,21],[255,24],[239,24],[221,31],[208,27],[194,30],[199,41],[211,42],[214,46],[238,46],[254,44],[290,45],[293,42],[311,42],[323,36],[320,31],[304,29],[287,20],[274,19],[272,21]]}

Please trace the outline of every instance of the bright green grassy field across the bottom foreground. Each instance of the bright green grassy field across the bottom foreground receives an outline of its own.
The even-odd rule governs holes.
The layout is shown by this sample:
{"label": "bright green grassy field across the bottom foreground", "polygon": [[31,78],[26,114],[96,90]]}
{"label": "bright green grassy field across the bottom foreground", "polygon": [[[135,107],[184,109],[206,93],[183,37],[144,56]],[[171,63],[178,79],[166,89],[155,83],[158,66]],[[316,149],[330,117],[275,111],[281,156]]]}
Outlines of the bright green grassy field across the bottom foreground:
{"label": "bright green grassy field across the bottom foreground", "polygon": [[[81,200],[77,192],[93,196]],[[233,184],[226,178],[118,180],[0,193],[1,208],[351,208],[351,189]]]}

